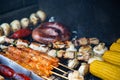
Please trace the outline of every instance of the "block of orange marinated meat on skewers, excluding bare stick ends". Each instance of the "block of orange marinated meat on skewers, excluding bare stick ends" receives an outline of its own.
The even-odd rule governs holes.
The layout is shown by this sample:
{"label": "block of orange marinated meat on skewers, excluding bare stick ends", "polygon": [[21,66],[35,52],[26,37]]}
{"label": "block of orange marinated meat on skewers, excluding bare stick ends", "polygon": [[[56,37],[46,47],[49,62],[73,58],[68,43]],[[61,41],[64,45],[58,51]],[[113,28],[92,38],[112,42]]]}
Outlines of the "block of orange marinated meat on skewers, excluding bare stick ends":
{"label": "block of orange marinated meat on skewers, excluding bare stick ends", "polygon": [[57,58],[50,57],[45,53],[35,51],[28,47],[18,48],[9,46],[5,56],[40,76],[50,76],[53,66],[58,67],[59,62]]}

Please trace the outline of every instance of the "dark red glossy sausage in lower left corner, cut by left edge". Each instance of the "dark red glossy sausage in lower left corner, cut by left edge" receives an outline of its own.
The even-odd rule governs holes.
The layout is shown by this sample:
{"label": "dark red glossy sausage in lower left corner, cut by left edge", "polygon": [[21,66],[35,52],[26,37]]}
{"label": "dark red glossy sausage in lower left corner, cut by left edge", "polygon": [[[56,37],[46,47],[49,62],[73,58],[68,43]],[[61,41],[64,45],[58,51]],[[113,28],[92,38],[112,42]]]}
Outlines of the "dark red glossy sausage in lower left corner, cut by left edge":
{"label": "dark red glossy sausage in lower left corner, cut by left edge", "polygon": [[6,65],[0,64],[0,74],[10,78],[13,77],[15,71]]}

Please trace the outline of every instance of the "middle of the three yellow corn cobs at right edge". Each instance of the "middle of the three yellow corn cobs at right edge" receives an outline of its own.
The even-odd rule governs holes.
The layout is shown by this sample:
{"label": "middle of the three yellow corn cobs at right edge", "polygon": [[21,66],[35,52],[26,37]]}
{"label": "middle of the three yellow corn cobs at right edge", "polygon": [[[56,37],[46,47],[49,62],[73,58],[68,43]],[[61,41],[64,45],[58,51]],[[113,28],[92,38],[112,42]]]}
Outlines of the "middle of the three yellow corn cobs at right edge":
{"label": "middle of the three yellow corn cobs at right edge", "polygon": [[106,51],[102,57],[105,61],[120,66],[120,52]]}

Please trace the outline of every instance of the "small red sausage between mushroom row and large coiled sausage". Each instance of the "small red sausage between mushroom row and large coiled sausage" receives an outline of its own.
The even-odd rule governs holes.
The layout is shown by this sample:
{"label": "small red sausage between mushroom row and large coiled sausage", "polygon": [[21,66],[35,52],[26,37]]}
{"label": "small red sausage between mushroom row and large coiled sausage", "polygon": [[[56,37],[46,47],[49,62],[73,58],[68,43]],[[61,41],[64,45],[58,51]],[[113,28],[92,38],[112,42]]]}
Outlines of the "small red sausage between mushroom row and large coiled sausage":
{"label": "small red sausage between mushroom row and large coiled sausage", "polygon": [[17,38],[24,38],[32,34],[32,31],[30,29],[20,29],[16,32],[14,32],[11,36],[11,38],[17,39]]}

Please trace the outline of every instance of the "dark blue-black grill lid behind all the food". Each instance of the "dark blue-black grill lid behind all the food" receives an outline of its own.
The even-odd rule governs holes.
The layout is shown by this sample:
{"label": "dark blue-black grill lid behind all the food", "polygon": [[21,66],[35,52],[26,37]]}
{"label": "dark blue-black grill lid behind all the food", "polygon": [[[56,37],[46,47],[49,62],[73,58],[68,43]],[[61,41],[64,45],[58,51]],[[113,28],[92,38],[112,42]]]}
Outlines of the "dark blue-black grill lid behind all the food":
{"label": "dark blue-black grill lid behind all the food", "polygon": [[120,37],[119,0],[0,0],[0,24],[38,9],[76,30],[78,37],[98,37],[108,45]]}

